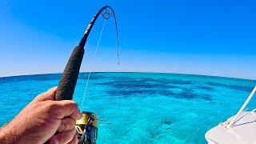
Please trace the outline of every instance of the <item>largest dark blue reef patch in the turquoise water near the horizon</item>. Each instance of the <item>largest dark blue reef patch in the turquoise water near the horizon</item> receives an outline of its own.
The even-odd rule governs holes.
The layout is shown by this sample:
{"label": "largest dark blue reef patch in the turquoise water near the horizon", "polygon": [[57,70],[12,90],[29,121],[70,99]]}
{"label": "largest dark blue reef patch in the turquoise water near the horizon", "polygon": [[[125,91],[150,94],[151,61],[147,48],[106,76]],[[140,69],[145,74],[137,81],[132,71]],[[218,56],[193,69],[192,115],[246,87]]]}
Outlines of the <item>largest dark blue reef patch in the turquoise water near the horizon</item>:
{"label": "largest dark blue reef patch in the turquoise water near the horizon", "polygon": [[[192,88],[189,89],[179,86],[180,84],[190,85],[191,83],[194,82],[177,82],[177,80],[161,81],[155,80],[154,78],[122,78],[122,80],[118,78],[111,82],[100,82],[97,85],[110,86],[110,90],[106,90],[106,93],[114,97],[163,95],[173,98],[201,98],[207,101],[211,100],[210,94],[196,94]],[[180,89],[181,92],[176,92],[173,89]]]}

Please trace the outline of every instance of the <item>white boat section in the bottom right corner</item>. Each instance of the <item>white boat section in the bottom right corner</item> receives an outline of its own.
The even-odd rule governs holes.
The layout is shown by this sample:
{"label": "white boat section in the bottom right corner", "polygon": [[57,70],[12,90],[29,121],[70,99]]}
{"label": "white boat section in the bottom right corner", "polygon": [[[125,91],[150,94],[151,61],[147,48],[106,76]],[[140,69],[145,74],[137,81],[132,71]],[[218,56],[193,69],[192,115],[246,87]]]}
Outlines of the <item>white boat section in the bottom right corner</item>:
{"label": "white boat section in the bottom right corner", "polygon": [[[231,120],[231,118],[229,118]],[[230,120],[206,132],[206,141],[210,144],[255,144],[256,143],[256,113],[242,112],[237,122],[230,128]]]}

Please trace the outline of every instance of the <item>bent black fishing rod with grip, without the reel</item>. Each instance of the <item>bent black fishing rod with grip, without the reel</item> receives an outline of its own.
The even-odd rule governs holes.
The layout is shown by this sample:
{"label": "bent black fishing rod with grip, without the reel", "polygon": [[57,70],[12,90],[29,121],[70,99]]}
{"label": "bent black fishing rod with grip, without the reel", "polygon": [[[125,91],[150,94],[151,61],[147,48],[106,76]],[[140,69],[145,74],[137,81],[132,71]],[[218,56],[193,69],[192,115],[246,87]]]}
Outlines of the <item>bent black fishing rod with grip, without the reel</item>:
{"label": "bent black fishing rod with grip, without the reel", "polygon": [[[83,54],[85,51],[84,47],[86,45],[86,40],[99,14],[101,14],[103,10],[106,10],[105,13],[102,14],[103,18],[108,19],[110,18],[110,16],[114,17],[114,23],[115,23],[116,35],[117,35],[117,46],[118,46],[118,25],[115,18],[114,10],[110,6],[103,6],[102,9],[98,10],[98,13],[95,14],[94,18],[92,18],[92,20],[90,21],[90,24],[88,25],[85,31],[85,34],[83,34],[82,39],[79,42],[78,46],[74,47],[74,50],[70,55],[68,62],[66,63],[65,70],[62,74],[62,78],[58,84],[58,90],[55,95],[55,99],[57,101],[71,100],[73,98],[74,88],[78,80],[78,74],[79,74],[81,63],[82,63]],[[112,14],[110,14],[108,10],[111,10]]]}

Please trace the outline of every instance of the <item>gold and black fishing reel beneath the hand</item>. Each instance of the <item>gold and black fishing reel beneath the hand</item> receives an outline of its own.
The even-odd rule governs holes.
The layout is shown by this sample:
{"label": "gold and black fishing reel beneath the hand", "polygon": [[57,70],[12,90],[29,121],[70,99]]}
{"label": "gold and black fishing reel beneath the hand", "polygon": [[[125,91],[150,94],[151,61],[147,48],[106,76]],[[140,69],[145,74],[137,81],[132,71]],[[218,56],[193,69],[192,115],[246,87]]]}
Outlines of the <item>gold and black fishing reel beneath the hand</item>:
{"label": "gold and black fishing reel beneath the hand", "polygon": [[82,118],[76,121],[75,128],[78,135],[78,144],[95,144],[98,135],[98,116],[83,111]]}

